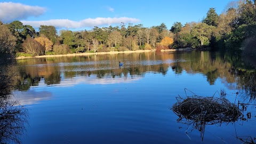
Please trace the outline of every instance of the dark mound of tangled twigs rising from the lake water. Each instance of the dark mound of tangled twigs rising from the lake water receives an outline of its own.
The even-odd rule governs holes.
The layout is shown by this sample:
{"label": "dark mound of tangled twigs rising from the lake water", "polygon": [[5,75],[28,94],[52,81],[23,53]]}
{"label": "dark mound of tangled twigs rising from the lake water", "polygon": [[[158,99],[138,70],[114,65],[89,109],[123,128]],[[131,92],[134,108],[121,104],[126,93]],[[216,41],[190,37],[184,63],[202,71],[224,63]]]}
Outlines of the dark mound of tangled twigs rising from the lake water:
{"label": "dark mound of tangled twigs rising from the lake water", "polygon": [[201,97],[194,95],[186,99],[177,98],[171,108],[179,119],[186,118],[193,122],[216,124],[235,122],[242,116],[241,110],[225,98]]}

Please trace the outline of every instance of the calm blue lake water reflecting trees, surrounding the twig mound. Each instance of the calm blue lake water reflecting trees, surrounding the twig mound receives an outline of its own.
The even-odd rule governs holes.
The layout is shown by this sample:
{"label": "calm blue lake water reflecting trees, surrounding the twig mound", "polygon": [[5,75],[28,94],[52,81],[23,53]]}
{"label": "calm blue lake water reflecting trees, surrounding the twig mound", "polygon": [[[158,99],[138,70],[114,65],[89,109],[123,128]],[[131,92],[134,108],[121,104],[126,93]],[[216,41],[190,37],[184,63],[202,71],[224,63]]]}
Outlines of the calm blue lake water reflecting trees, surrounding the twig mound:
{"label": "calm blue lake water reflecting trees, surrounding the twig mound", "polygon": [[[239,56],[147,52],[25,59],[18,65],[13,93],[28,112],[22,143],[256,141],[255,68]],[[198,130],[171,109],[179,96],[219,98],[221,90],[242,111],[235,122]]]}

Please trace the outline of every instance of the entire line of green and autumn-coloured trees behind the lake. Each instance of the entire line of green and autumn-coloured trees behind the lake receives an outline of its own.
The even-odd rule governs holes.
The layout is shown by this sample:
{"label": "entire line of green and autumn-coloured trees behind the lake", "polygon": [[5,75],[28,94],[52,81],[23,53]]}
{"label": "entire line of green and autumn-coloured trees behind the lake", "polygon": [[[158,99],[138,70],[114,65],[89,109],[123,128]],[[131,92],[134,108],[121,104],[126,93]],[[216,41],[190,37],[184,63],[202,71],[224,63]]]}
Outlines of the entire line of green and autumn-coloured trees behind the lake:
{"label": "entire line of green and autumn-coloured trees behind the lake", "polygon": [[[174,22],[170,30],[164,23],[143,27],[129,23],[125,26],[94,27],[92,30],[57,30],[40,26],[39,31],[20,21],[0,23],[0,33],[10,30],[15,38],[15,52],[29,55],[67,54],[77,52],[108,52],[125,50],[161,50],[183,47],[239,50],[256,53],[256,1],[230,2],[218,15],[210,8],[201,22]],[[3,30],[4,29],[4,30]],[[2,35],[1,35],[2,36]],[[1,48],[2,49],[2,48]]]}

